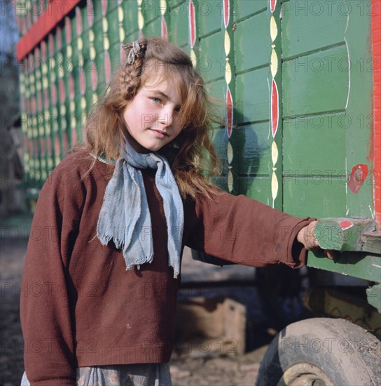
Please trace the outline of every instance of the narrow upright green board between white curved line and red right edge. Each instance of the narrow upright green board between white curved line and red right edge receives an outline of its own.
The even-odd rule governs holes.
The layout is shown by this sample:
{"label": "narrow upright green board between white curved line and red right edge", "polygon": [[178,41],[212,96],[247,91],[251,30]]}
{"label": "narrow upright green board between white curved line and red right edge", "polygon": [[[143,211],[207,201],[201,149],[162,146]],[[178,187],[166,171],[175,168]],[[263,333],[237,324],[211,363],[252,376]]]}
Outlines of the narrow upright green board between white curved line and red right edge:
{"label": "narrow upright green board between white curved line and red right edge", "polygon": [[[372,121],[373,117],[373,72],[375,60],[370,51],[370,17],[372,8],[368,1],[351,1],[352,13],[349,16],[347,29],[347,44],[351,58],[351,88],[347,106],[347,114],[352,119],[352,125],[347,130],[347,167],[348,171],[357,164],[368,165],[369,171],[373,170],[372,164]],[[374,12],[373,12],[374,13]],[[372,217],[373,215],[373,183],[368,178],[354,194],[348,190],[347,206],[349,215]]]}

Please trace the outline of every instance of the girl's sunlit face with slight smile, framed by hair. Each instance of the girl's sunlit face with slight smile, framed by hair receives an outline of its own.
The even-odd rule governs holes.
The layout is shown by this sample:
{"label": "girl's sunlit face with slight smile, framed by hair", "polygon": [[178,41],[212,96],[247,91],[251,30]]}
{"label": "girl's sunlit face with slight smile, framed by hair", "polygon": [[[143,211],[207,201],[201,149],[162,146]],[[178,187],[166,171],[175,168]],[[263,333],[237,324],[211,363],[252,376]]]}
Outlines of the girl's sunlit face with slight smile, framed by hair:
{"label": "girl's sunlit face with slight smile, framed by hair", "polygon": [[139,153],[157,152],[181,133],[181,96],[171,77],[148,79],[123,113],[127,140]]}

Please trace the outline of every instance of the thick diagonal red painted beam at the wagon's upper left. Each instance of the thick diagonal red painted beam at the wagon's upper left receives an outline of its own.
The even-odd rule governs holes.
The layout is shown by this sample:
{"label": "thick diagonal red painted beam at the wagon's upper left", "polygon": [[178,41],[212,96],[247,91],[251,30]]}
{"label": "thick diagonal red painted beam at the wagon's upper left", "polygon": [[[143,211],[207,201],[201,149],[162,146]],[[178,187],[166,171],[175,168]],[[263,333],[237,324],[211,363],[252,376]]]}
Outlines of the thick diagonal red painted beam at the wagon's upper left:
{"label": "thick diagonal red painted beam at the wagon's upper left", "polygon": [[81,0],[50,1],[46,10],[22,36],[16,47],[18,60],[25,56],[45,38],[45,36],[80,2]]}

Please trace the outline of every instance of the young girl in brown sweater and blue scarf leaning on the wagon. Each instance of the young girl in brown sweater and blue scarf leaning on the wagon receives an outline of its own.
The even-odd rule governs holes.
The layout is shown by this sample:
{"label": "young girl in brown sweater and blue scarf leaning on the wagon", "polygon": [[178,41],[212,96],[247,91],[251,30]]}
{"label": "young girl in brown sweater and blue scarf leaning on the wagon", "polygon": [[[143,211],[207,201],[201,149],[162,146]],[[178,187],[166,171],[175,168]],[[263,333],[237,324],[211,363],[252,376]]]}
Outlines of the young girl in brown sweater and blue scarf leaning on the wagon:
{"label": "young girl in brown sweater and blue scarf leaning on the wagon", "polygon": [[86,145],[41,190],[22,278],[23,385],[171,385],[184,245],[253,267],[300,267],[319,246],[311,218],[208,182],[212,112],[188,55],[158,38],[125,47]]}

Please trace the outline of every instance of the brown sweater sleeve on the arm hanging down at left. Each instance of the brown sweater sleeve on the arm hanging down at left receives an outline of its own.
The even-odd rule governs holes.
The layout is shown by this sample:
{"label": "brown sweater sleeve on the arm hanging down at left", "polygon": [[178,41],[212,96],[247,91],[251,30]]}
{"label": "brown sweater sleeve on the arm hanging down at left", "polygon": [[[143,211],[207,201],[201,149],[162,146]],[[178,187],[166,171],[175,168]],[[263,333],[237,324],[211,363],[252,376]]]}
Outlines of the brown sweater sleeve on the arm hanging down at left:
{"label": "brown sweater sleeve on the arm hanging down at left", "polygon": [[63,160],[43,185],[34,213],[20,299],[25,371],[31,385],[76,382],[68,267],[83,196],[76,167]]}

